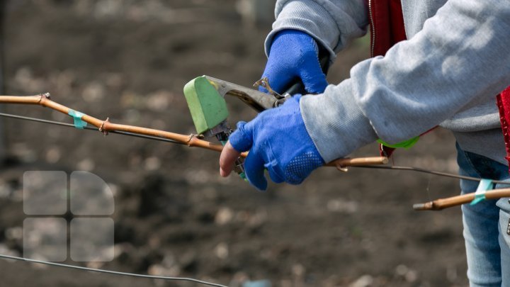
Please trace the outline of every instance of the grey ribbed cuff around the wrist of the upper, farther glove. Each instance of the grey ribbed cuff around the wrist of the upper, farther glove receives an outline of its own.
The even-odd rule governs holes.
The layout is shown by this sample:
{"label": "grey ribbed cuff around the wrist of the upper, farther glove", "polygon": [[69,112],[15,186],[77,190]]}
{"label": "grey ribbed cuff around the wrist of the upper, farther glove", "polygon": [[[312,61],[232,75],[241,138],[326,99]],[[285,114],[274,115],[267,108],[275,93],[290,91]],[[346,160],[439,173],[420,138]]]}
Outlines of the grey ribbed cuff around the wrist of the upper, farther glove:
{"label": "grey ribbed cuff around the wrist of the upper, farther glove", "polygon": [[[280,10],[280,11],[278,11]],[[311,0],[291,1],[283,7],[276,7],[278,14],[273,23],[273,30],[266,38],[264,45],[266,56],[269,56],[273,37],[281,30],[300,30],[312,36],[319,45],[329,52],[329,62],[333,63],[336,58],[334,49],[339,44],[336,23],[329,16],[329,12],[320,4]]]}

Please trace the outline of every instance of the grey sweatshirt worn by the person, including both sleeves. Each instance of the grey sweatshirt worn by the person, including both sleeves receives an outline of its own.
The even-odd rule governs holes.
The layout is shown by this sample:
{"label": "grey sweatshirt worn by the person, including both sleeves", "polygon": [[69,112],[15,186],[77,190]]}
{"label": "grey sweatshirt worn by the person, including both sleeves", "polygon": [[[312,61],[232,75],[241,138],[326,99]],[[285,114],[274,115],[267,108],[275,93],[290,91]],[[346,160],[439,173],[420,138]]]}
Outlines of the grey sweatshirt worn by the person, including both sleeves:
{"label": "grey sweatshirt worn by the person, including both sleeves", "polygon": [[[402,11],[409,40],[356,64],[324,94],[302,97],[303,120],[323,159],[441,125],[463,150],[508,164],[496,95],[510,85],[509,2],[402,0]],[[266,52],[275,33],[295,29],[334,60],[367,26],[363,0],[279,0]]]}

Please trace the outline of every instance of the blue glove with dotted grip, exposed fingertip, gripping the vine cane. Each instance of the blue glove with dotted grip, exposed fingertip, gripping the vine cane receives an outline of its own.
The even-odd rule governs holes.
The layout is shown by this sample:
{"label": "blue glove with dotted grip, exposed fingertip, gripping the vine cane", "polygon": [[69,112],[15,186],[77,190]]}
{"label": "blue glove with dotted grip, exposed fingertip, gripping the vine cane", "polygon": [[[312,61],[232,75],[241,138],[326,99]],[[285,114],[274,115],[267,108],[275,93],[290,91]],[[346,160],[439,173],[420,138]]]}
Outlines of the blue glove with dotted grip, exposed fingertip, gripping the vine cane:
{"label": "blue glove with dotted grip, exposed fingertip, gripping the vine cane", "polygon": [[277,184],[300,184],[324,164],[302,120],[300,98],[293,96],[282,106],[259,113],[249,123],[237,123],[237,130],[229,137],[238,152],[249,150],[244,161],[246,177],[260,190],[266,190],[268,184],[264,167]]}

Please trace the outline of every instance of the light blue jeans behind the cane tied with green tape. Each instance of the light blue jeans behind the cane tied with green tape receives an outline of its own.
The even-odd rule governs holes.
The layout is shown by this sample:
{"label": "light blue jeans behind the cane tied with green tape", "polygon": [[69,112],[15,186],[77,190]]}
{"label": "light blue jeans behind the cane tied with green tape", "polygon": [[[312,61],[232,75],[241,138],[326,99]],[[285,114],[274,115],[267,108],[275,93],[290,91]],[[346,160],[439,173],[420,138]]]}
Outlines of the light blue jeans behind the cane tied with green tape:
{"label": "light blue jeans behind the cane tied with green tape", "polygon": [[[510,181],[504,164],[479,154],[465,152],[457,145],[460,174],[483,179]],[[477,181],[460,181],[462,193],[475,192]],[[498,184],[496,188],[509,188]],[[510,203],[509,198],[465,204],[464,240],[467,255],[467,278],[470,286],[510,287]]]}

